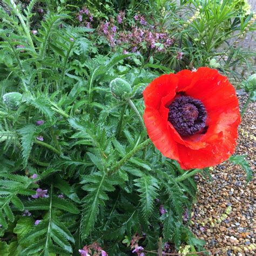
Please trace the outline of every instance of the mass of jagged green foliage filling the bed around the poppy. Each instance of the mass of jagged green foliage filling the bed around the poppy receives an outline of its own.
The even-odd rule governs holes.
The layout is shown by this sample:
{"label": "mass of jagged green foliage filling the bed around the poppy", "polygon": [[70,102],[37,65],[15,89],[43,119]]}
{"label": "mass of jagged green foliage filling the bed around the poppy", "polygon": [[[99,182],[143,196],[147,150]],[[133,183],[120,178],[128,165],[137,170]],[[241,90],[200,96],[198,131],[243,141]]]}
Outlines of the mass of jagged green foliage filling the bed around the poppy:
{"label": "mass of jagged green foliage filling the bed around the poppy", "polygon": [[[215,68],[236,64],[241,53],[219,66],[223,53],[216,49],[233,31],[245,31],[251,15],[209,2],[201,19],[185,28],[179,14],[198,1],[87,1],[93,15],[87,28],[78,19],[84,1],[16,2],[0,7],[1,255],[73,255],[95,241],[109,255],[126,255],[130,248],[122,241],[129,246],[135,234],[153,251],[159,237],[177,249],[201,248],[183,218],[185,211],[190,215],[196,183],[192,177],[177,181],[186,172],[150,144],[137,114],[144,111],[145,86],[160,73],[214,58]],[[116,24],[118,8],[126,10],[122,25]],[[139,11],[152,19],[138,28],[163,28],[158,32],[175,38],[170,48],[163,51],[159,42],[154,49],[141,42],[140,53],[123,54],[137,42],[110,48],[100,22],[109,19],[109,26],[130,33]],[[178,60],[180,51],[185,56]],[[10,93],[15,97],[6,101]],[[112,93],[131,97],[132,109]],[[231,161],[251,179],[244,157]]]}

